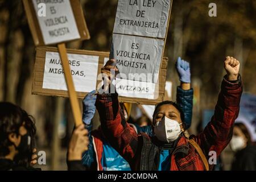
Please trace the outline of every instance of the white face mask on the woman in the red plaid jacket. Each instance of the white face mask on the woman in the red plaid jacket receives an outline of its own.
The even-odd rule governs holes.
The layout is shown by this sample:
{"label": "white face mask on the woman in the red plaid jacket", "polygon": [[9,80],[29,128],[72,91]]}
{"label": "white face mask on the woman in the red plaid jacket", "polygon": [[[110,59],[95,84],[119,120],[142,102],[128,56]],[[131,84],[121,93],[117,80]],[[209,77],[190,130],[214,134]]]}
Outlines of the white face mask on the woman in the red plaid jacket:
{"label": "white face mask on the woman in the red plaid jacket", "polygon": [[181,134],[180,125],[177,121],[164,117],[155,124],[155,136],[162,142],[172,142]]}

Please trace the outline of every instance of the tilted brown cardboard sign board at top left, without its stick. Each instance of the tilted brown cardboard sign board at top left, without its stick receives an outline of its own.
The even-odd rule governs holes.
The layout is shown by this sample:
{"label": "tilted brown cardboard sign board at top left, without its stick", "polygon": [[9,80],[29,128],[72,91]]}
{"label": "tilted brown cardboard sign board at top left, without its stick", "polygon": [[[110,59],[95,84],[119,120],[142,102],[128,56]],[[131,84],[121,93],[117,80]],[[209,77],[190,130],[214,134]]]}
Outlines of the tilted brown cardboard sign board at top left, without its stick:
{"label": "tilted brown cardboard sign board at top left, without its stick", "polygon": [[23,4],[36,46],[90,39],[79,0],[23,0]]}

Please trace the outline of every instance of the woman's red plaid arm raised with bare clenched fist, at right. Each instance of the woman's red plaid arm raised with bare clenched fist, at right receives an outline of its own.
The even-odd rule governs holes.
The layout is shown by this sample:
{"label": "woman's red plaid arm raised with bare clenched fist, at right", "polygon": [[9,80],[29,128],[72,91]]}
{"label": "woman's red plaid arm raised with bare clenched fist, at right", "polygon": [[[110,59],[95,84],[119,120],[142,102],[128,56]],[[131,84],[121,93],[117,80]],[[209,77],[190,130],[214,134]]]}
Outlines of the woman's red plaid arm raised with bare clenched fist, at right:
{"label": "woman's red plaid arm raised with bare clenched fist, at right", "polygon": [[227,75],[221,84],[221,92],[211,121],[204,131],[197,137],[192,137],[199,143],[205,156],[209,158],[209,151],[217,156],[228,145],[233,134],[234,121],[239,114],[240,98],[242,94],[240,63],[233,57],[225,60]]}

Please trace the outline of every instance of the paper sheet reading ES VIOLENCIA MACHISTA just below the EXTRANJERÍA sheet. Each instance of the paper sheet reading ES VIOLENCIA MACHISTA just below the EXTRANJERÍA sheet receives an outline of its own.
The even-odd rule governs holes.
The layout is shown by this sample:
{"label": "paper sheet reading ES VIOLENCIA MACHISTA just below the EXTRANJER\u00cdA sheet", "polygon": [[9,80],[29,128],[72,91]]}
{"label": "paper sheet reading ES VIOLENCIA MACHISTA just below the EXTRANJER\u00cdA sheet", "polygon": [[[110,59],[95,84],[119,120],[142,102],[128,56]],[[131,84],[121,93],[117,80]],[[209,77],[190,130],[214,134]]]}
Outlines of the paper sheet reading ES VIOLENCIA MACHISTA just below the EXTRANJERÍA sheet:
{"label": "paper sheet reading ES VIOLENCIA MACHISTA just below the EXTRANJER\u00cdA sheet", "polygon": [[163,46],[159,39],[113,34],[110,57],[116,60],[122,78],[156,83]]}

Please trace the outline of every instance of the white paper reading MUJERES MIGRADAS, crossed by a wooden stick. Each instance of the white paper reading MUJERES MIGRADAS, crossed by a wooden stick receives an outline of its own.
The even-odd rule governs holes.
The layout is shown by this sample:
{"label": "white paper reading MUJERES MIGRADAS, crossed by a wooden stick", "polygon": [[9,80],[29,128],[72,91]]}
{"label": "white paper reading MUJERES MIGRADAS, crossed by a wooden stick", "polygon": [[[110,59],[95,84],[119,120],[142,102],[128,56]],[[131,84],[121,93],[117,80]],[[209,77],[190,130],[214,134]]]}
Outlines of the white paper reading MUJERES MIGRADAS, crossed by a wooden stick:
{"label": "white paper reading MUJERES MIGRADAS, crossed by a wooden stick", "polygon": [[[92,92],[96,89],[98,56],[68,54],[71,75],[76,92]],[[68,90],[59,53],[46,52],[44,89]]]}

